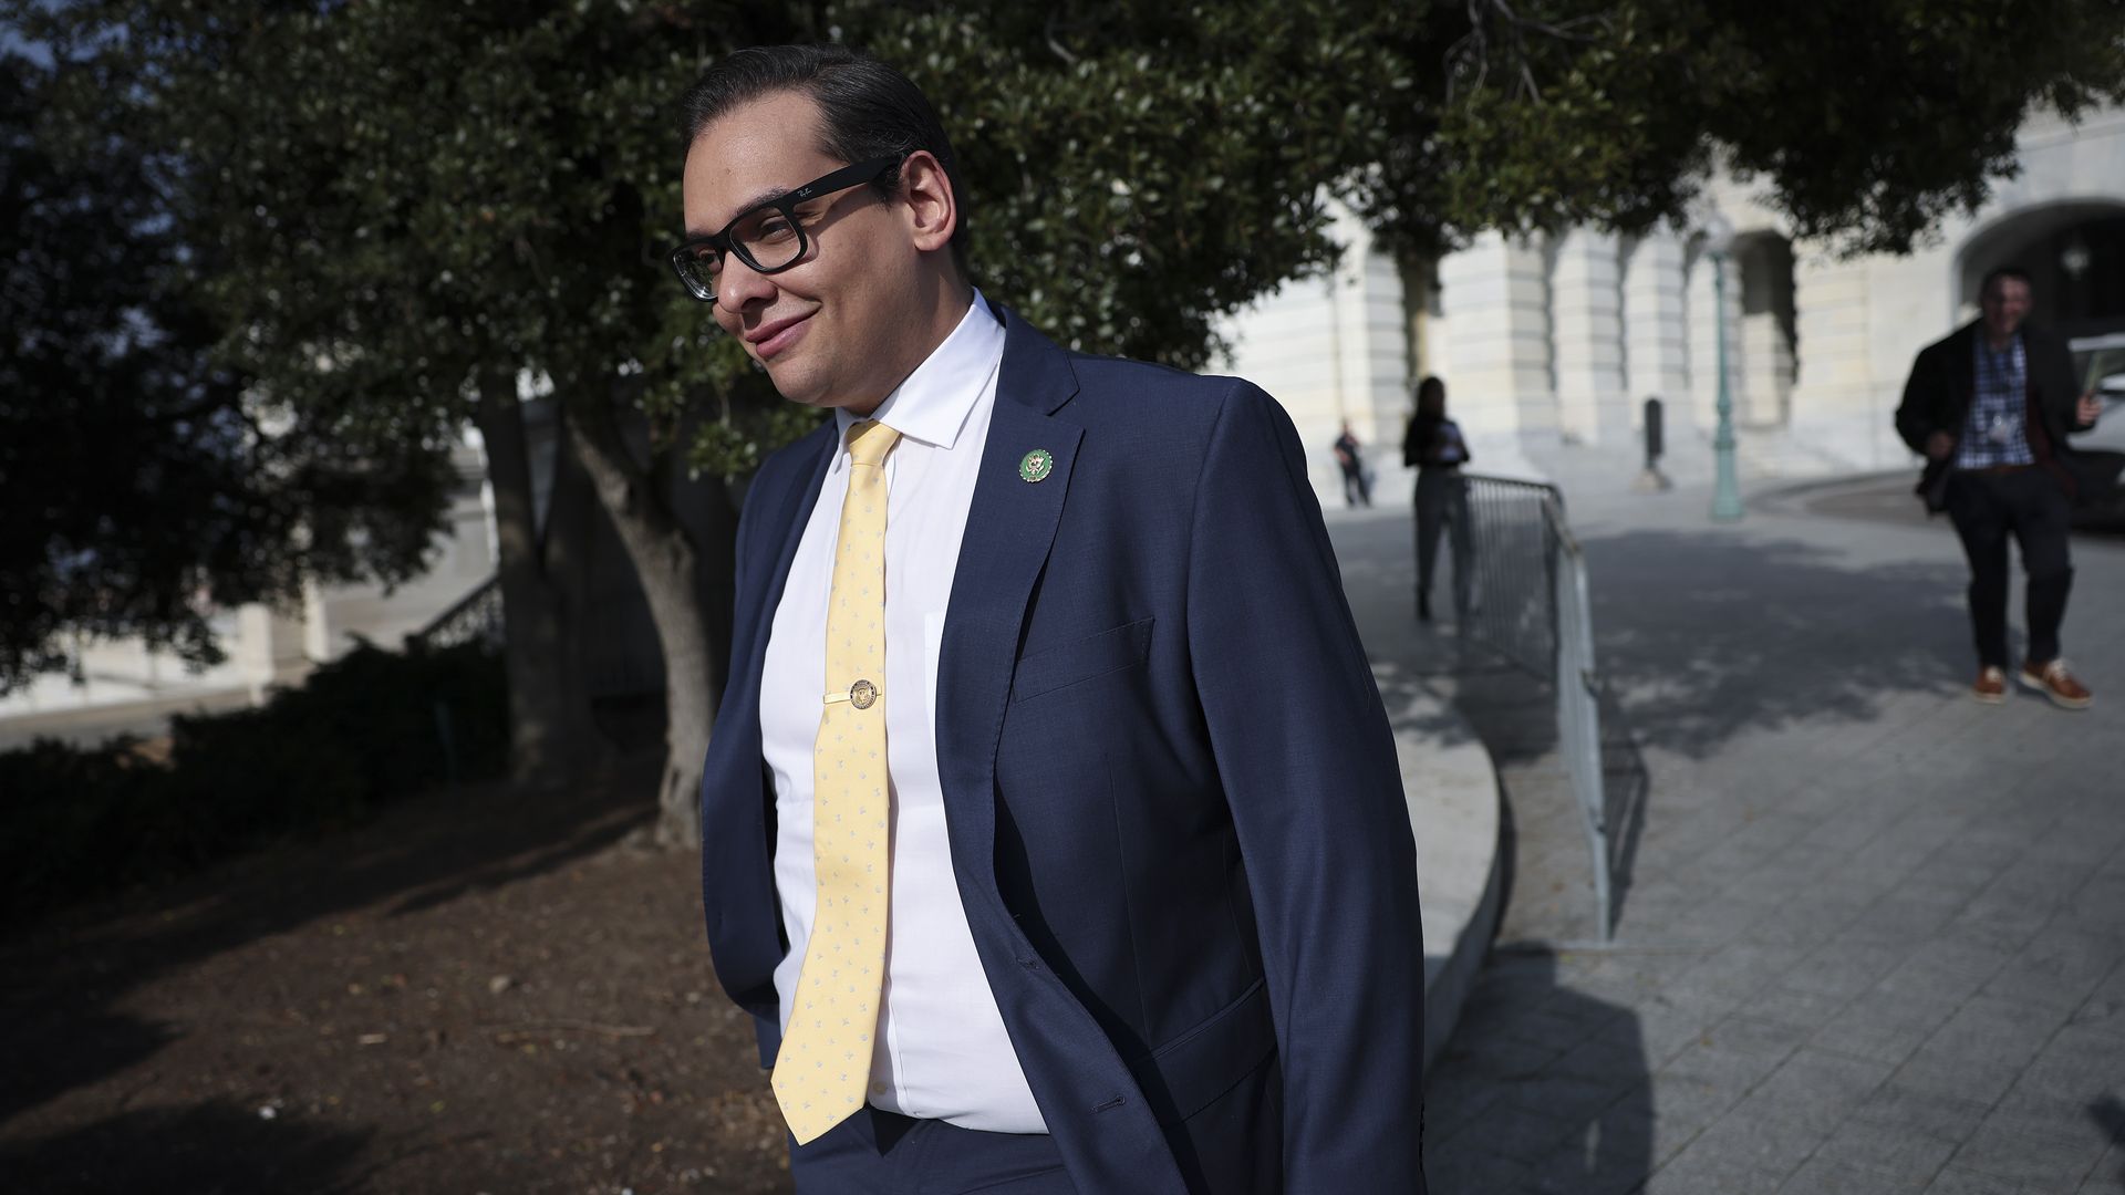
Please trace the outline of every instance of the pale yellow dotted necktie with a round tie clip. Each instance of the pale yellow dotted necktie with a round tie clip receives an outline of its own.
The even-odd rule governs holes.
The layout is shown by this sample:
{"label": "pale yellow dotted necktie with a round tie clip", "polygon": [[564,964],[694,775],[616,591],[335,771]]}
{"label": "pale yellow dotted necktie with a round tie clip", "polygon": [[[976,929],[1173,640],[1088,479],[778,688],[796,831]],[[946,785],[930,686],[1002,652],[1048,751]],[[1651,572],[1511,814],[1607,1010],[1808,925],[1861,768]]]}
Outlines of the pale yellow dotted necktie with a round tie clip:
{"label": "pale yellow dotted necktie with a round tie clip", "polygon": [[848,498],[827,600],[827,708],[812,746],[818,912],[774,1089],[797,1144],[863,1106],[886,963],[886,453],[878,421],[848,430]]}

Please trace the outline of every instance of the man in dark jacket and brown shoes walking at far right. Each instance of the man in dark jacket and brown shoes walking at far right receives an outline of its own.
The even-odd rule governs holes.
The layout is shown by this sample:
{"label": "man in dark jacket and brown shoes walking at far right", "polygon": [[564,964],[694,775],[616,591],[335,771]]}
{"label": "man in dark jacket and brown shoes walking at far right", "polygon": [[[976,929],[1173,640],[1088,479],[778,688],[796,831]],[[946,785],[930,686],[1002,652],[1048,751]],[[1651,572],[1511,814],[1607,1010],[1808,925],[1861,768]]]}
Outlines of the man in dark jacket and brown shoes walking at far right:
{"label": "man in dark jacket and brown shoes walking at far right", "polygon": [[[1919,493],[1946,510],[1970,557],[1970,627],[1978,678],[1970,695],[2006,700],[2006,540],[2029,574],[2029,653],[2014,680],[2055,706],[2082,710],[2093,695],[2059,655],[2059,623],[2074,583],[2068,523],[2076,495],[2066,438],[2095,425],[2102,404],[2074,385],[2059,336],[2027,325],[2029,274],[2000,268],[1978,287],[1980,317],[1927,344],[1910,366],[1896,432],[1925,455]],[[2078,395],[2078,398],[2076,398]]]}

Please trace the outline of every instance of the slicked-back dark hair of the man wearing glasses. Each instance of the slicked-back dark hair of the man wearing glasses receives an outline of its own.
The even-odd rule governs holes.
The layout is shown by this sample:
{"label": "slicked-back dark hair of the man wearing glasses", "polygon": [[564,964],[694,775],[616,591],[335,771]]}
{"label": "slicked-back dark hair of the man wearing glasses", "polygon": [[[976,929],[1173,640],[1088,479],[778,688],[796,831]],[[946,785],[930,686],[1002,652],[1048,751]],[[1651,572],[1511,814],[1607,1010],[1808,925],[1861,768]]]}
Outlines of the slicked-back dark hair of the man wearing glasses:
{"label": "slicked-back dark hair of the man wearing glasses", "polygon": [[[693,149],[701,130],[731,108],[778,91],[803,91],[818,104],[820,153],[842,162],[905,157],[931,151],[944,166],[958,208],[952,230],[952,259],[967,270],[967,189],[958,183],[958,159],[944,134],[937,108],[905,74],[876,57],[839,45],[769,45],[716,60],[680,102],[680,130]],[[899,166],[871,183],[880,196],[901,185]]]}

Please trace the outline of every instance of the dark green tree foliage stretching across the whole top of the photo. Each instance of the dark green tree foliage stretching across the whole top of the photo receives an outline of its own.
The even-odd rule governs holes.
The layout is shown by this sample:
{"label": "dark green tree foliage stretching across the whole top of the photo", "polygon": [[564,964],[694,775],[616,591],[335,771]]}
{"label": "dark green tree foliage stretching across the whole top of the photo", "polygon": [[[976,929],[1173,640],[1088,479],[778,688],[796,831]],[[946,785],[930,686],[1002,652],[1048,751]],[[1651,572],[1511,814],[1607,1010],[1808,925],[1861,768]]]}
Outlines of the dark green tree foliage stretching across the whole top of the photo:
{"label": "dark green tree foliage stretching across the whole top of the photo", "polygon": [[[19,659],[64,625],[191,627],[204,651],[178,615],[202,576],[217,602],[306,570],[393,576],[440,510],[440,447],[536,385],[644,574],[676,685],[703,693],[720,670],[697,561],[710,587],[727,570],[669,498],[691,472],[729,506],[716,483],[814,419],[661,259],[676,100],[731,49],[844,40],[910,72],[954,136],[984,291],[1073,347],[1182,368],[1211,359],[1222,315],[1337,257],[1339,196],[1426,257],[1485,228],[1643,230],[1685,215],[1717,162],[1796,234],[1896,251],[2012,172],[2032,111],[2125,96],[2114,0],[13,13],[57,64],[36,104],[8,100],[8,202],[45,255],[13,257],[4,298],[4,485],[40,495],[8,502],[4,551],[47,561],[8,583]],[[523,559],[529,481],[502,466],[504,557]],[[98,621],[125,593],[153,617]],[[667,697],[706,734],[712,700]]]}

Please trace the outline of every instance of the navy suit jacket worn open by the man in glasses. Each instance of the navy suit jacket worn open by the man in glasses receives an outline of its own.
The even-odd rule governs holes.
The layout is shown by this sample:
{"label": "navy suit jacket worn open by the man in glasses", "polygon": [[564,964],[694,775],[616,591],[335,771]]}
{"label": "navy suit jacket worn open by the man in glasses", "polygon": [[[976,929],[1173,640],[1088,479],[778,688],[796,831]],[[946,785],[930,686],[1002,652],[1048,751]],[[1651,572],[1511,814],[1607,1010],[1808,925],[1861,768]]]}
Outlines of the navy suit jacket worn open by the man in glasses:
{"label": "navy suit jacket worn open by the man in glasses", "polygon": [[[1424,1191],[1424,944],[1394,742],[1290,419],[1005,321],[937,668],[952,868],[1080,1191]],[[737,532],[701,780],[725,991],[778,1046],[761,659],[833,425]],[[1039,483],[1018,474],[1054,455]]]}

